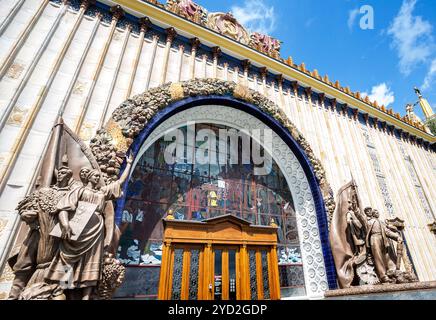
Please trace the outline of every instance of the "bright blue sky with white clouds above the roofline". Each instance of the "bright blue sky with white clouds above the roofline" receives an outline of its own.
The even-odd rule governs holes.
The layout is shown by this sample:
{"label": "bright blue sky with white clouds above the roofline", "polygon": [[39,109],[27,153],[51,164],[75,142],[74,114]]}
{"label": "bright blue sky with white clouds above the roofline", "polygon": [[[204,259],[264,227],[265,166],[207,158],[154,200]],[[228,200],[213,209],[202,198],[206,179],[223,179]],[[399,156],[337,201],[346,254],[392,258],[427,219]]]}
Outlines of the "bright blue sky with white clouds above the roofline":
{"label": "bright blue sky with white clouds above the roofline", "polygon": [[[435,0],[196,0],[209,12],[233,12],[253,31],[281,41],[282,57],[305,62],[342,86],[405,114],[422,89],[436,111]],[[374,28],[362,29],[369,5]],[[365,9],[365,7],[363,8]],[[415,112],[422,116],[419,108]]]}

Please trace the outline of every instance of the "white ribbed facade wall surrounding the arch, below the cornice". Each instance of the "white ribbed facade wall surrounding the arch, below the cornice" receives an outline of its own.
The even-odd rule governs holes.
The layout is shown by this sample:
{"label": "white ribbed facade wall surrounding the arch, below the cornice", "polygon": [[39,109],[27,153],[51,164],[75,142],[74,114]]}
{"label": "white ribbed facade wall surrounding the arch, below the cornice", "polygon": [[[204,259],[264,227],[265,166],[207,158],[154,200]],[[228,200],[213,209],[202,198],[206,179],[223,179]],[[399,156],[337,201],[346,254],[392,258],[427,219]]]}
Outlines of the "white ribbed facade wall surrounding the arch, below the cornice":
{"label": "white ribbed facade wall surrounding the arch, below the cornice", "polygon": [[[89,141],[100,123],[105,123],[126,98],[157,87],[162,80],[189,80],[194,73],[196,78],[216,75],[266,94],[306,137],[324,165],[333,192],[336,194],[353,175],[363,204],[377,208],[382,217],[388,218],[364,136],[367,132],[394,213],[406,221],[404,233],[418,276],[421,281],[436,280],[436,237],[428,228],[434,217],[432,221],[424,212],[400,145],[411,157],[433,215],[436,212],[435,152],[406,139],[400,142],[391,133],[364,126],[319,101],[311,101],[306,95],[296,96],[293,89],[281,89],[277,82],[265,85],[260,76],[252,74],[245,78],[242,66],[237,71],[230,70],[220,58],[217,67],[206,56],[192,59],[189,45],[186,46],[189,50],[183,46],[172,47],[166,55],[166,43],[157,36],[147,35],[144,39],[128,29],[116,28],[114,23],[81,16],[62,4],[24,0],[17,1],[16,6],[13,1],[0,1],[0,66],[11,62],[0,79],[0,115],[4,118],[8,107],[12,111],[0,128],[0,174],[7,179],[0,193],[2,261],[17,227],[14,208],[30,190],[58,114]],[[15,15],[8,21],[8,13],[13,10]],[[67,43],[70,35],[74,36]],[[36,59],[38,52],[39,59]],[[9,282],[9,277],[1,278],[0,294],[8,292]]]}

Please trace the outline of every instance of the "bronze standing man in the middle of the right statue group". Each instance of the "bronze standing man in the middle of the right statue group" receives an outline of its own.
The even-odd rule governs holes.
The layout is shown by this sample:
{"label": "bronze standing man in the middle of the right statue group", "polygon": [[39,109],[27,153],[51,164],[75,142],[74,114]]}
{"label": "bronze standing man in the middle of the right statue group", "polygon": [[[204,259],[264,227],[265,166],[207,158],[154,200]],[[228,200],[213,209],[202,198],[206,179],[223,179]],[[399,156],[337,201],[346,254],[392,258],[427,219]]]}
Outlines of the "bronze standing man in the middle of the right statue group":
{"label": "bronze standing man in the middle of the right statue group", "polygon": [[377,276],[381,283],[392,283],[389,275],[395,274],[396,264],[392,260],[392,243],[389,239],[402,242],[398,233],[392,232],[379,220],[379,212],[372,210],[368,221],[366,245],[370,250]]}

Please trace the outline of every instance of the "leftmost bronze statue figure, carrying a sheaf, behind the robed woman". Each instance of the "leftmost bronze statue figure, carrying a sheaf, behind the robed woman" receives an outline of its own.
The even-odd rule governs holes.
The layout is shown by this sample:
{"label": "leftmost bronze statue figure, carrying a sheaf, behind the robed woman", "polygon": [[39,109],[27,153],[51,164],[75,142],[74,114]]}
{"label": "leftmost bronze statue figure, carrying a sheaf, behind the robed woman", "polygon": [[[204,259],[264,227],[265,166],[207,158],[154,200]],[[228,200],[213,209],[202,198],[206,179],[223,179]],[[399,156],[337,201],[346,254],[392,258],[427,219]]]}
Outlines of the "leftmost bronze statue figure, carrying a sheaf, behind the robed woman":
{"label": "leftmost bronze statue figure, carrying a sheaf, behind the robed woman", "polygon": [[18,299],[26,287],[44,282],[46,268],[59,246],[58,240],[49,235],[57,222],[53,212],[58,201],[68,191],[79,186],[72,175],[69,167],[63,165],[56,171],[55,185],[34,191],[18,204],[16,210],[30,230],[12,265],[15,279],[9,294],[11,300]]}

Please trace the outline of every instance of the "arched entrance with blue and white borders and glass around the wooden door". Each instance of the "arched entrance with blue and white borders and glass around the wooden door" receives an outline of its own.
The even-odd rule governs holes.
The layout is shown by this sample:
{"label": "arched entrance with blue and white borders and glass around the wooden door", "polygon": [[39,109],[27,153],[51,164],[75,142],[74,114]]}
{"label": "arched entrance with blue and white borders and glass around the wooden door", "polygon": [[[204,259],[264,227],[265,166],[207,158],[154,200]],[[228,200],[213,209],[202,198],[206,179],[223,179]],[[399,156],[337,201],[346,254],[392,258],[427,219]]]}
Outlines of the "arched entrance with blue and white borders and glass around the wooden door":
{"label": "arched entrance with blue and white borders and glass around the wooden door", "polygon": [[[130,266],[128,271],[134,272],[130,272],[131,277],[128,272],[125,287],[121,288],[118,295],[129,296],[133,292],[144,298],[157,296],[159,254],[162,249],[160,225],[161,219],[171,210],[180,219],[191,220],[228,213],[251,218],[255,224],[260,225],[270,224],[274,219],[281,229],[279,247],[282,251],[278,250],[278,258],[282,259],[279,261],[282,298],[322,296],[329,287],[335,287],[336,280],[327,237],[328,222],[323,201],[326,195],[320,189],[321,180],[324,179],[323,184],[326,181],[325,177],[320,179],[316,176],[313,169],[319,167],[319,162],[313,159],[313,154],[307,157],[308,150],[311,152],[310,147],[298,131],[295,132],[296,129],[291,130],[292,125],[276,106],[269,101],[259,101],[259,97],[248,89],[248,94],[245,92],[244,97],[241,97],[239,92],[236,94],[239,89],[235,84],[225,83],[228,91],[230,87],[230,92],[223,93],[222,82],[215,85],[209,82],[206,85],[213,85],[212,89],[205,92],[203,86],[197,94],[192,90],[186,94],[186,87],[182,85],[176,89],[185,90],[183,94],[175,94],[174,86],[168,86],[167,91],[175,101],[166,102],[162,107],[152,110],[152,116],[144,128],[127,143],[136,155],[136,160],[131,182],[125,189],[126,196],[117,203],[117,224],[122,231],[127,232],[121,238],[118,253]],[[199,83],[201,81],[195,82],[196,87]],[[253,96],[257,102],[252,99]],[[136,97],[137,100],[141,98],[143,96]],[[135,106],[139,108],[138,104],[132,108]],[[147,105],[143,106],[146,107]],[[119,118],[118,116],[115,120],[122,122]],[[183,128],[190,122],[195,123],[194,136],[204,129],[215,133],[219,129],[248,132],[270,130],[271,144],[258,142],[262,153],[271,155],[271,168],[274,168],[272,174],[266,175],[266,179],[259,179],[264,179],[261,182],[252,179],[250,188],[247,188],[248,180],[243,177],[244,170],[241,168],[233,170],[239,172],[239,176],[227,175],[228,168],[221,172],[219,167],[211,165],[204,170],[199,167],[200,174],[197,174],[195,163],[188,168],[185,162],[176,162],[171,170],[164,169],[159,164],[159,159],[164,156],[168,144],[161,145],[159,140],[171,128],[181,128],[186,132]],[[111,130],[109,128],[107,131],[112,137],[116,136]],[[256,138],[252,135],[251,140]],[[183,146],[184,150],[190,150],[189,148],[193,151],[196,146],[189,143]],[[151,159],[153,163],[150,162]],[[141,177],[138,178],[137,175]],[[181,178],[183,175],[186,179]],[[280,182],[276,186],[274,181]],[[227,189],[238,190],[230,187],[232,185],[239,186],[242,191],[228,191]],[[138,191],[141,188],[148,191],[143,194]],[[176,192],[172,191],[174,188]],[[202,196],[202,192],[208,194]],[[220,192],[230,192],[239,197],[233,198],[236,200],[232,203],[226,198],[228,195],[223,197]],[[247,196],[249,193],[256,196]],[[145,199],[138,199],[139,194]],[[258,199],[262,199],[260,205]],[[239,204],[236,204],[238,201]],[[256,211],[259,207],[262,209],[257,214],[253,212],[253,208]],[[135,228],[134,221],[139,221],[145,229]],[[288,243],[288,240],[291,241]],[[129,283],[134,285],[129,286]]]}

